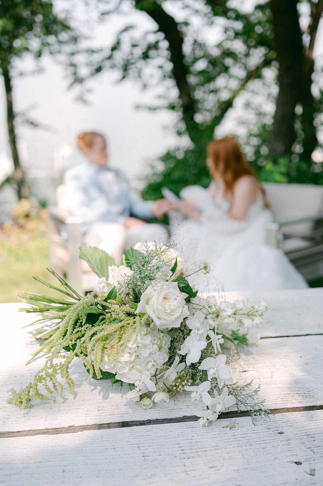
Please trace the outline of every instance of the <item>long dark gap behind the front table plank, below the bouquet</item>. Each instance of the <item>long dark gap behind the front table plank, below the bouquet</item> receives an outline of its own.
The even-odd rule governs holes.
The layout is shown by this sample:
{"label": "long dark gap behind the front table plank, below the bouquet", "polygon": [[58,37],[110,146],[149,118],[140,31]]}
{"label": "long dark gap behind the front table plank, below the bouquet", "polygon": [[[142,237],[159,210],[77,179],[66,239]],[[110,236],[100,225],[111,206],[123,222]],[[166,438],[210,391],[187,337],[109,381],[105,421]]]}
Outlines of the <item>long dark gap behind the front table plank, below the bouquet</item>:
{"label": "long dark gap behind the front table plank, below the bouquet", "polygon": [[[293,412],[312,412],[314,410],[323,410],[323,405],[313,405],[308,407],[292,407],[292,408],[274,408],[270,410],[270,415],[288,414]],[[247,411],[243,412],[226,412],[218,417],[231,419],[238,417],[250,417]],[[9,437],[27,437],[33,435],[57,435],[57,434],[75,434],[77,432],[84,432],[89,430],[104,430],[104,429],[121,429],[125,427],[140,427],[144,425],[162,425],[171,423],[194,422],[197,418],[195,415],[172,418],[155,418],[153,420],[128,420],[124,422],[109,422],[102,424],[91,425],[69,425],[68,427],[57,427],[54,429],[36,429],[23,430],[17,432],[0,432],[0,439]]]}

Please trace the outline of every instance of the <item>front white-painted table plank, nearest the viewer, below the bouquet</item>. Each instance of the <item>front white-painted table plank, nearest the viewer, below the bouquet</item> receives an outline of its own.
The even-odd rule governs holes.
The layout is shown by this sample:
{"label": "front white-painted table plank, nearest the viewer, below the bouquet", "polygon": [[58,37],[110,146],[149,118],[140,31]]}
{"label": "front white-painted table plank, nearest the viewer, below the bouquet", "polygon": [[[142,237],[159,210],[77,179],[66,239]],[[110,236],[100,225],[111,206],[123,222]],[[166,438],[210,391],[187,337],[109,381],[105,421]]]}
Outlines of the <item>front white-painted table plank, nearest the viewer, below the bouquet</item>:
{"label": "front white-painted table plank, nearest the viewer, below the bouquet", "polygon": [[[323,411],[1,439],[5,486],[322,486]],[[153,430],[152,430],[153,429]]]}

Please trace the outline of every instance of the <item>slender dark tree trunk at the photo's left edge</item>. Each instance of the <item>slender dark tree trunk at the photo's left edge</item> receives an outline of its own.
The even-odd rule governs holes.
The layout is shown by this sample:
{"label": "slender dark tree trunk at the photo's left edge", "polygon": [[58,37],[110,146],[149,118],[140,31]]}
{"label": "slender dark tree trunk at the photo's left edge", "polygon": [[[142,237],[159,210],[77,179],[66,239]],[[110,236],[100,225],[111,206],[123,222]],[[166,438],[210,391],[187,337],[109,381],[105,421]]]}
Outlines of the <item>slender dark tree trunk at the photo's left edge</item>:
{"label": "slender dark tree trunk at the photo's left edge", "polygon": [[18,194],[18,198],[21,199],[22,197],[28,197],[28,187],[25,181],[23,171],[20,166],[20,161],[19,161],[19,156],[17,151],[16,134],[15,134],[15,126],[14,126],[15,115],[12,106],[12,87],[11,87],[11,78],[10,78],[10,73],[8,68],[2,68],[2,76],[4,79],[4,86],[6,90],[8,132],[9,132],[9,141],[10,141],[12,158],[15,165],[15,181],[17,183],[17,194]]}

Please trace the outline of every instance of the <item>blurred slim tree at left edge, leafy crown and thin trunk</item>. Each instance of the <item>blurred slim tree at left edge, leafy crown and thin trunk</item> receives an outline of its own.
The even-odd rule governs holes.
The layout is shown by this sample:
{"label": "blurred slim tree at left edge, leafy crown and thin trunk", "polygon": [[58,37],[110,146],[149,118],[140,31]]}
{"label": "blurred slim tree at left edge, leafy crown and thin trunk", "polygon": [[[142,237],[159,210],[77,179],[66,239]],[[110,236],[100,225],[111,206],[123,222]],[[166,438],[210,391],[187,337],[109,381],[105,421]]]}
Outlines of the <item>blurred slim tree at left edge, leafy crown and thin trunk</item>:
{"label": "blurred slim tree at left edge, leafy crown and thin trunk", "polygon": [[[75,45],[76,42],[75,31],[65,19],[54,14],[50,1],[0,1],[0,69],[6,91],[8,132],[19,198],[28,195],[28,188],[20,166],[16,143],[17,113],[13,108],[12,78],[23,74],[18,71],[16,61],[26,54],[38,59],[44,51],[58,54],[64,46]],[[25,121],[36,125],[27,118]]]}

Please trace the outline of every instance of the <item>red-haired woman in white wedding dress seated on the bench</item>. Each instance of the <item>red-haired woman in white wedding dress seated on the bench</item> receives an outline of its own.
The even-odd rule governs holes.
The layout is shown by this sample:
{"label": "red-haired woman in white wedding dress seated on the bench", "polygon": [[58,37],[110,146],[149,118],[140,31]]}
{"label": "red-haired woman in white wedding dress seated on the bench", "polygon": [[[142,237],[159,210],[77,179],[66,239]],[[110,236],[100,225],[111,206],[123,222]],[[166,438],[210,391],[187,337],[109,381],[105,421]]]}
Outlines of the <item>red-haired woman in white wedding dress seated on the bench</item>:
{"label": "red-haired woman in white wedding dress seated on the bench", "polygon": [[[210,263],[212,274],[198,272],[195,283],[229,291],[306,288],[308,284],[284,252],[265,244],[273,221],[265,191],[246,162],[238,142],[225,137],[207,147],[211,183],[188,186],[177,208],[186,220],[173,225],[173,239],[187,262]],[[214,288],[214,287],[217,288]]]}

